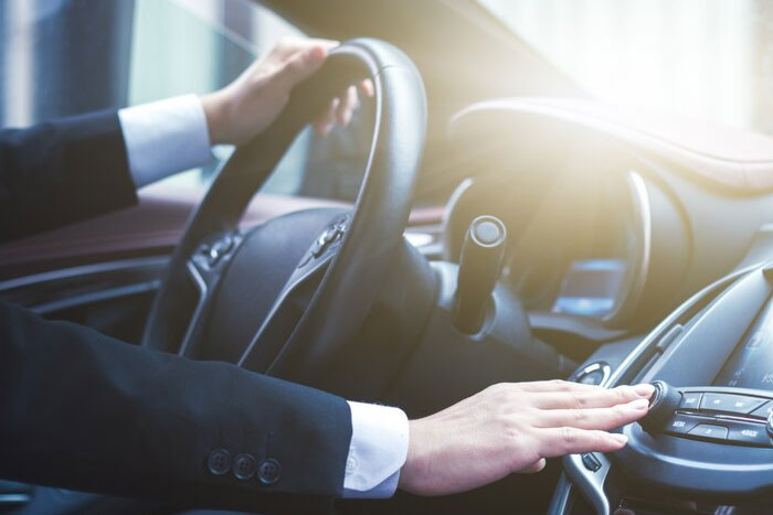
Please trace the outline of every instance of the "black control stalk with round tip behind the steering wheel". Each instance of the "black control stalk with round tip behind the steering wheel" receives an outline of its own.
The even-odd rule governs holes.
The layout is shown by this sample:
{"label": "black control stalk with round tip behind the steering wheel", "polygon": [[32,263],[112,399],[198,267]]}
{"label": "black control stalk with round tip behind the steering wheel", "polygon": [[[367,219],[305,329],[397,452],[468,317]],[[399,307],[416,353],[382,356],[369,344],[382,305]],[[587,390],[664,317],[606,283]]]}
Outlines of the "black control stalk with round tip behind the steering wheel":
{"label": "black control stalk with round tip behind the steering wheel", "polygon": [[456,329],[475,334],[501,271],[507,229],[495,216],[478,216],[465,236],[459,258],[452,320]]}

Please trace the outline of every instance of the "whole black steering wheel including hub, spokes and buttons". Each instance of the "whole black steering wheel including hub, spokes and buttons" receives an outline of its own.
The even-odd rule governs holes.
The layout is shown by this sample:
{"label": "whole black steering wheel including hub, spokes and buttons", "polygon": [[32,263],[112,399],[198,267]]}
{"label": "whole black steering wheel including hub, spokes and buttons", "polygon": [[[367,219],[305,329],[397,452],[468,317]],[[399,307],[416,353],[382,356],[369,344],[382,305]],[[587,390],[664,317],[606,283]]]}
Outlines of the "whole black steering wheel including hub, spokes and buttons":
{"label": "whole black steering wheel including hub, spokes and buttons", "polygon": [[[353,210],[307,210],[240,230],[300,129],[364,78],[374,85],[374,127]],[[373,39],[332,50],[279,119],[218,171],[171,257],[142,344],[314,384],[357,334],[401,242],[425,128],[423,82],[403,52]]]}

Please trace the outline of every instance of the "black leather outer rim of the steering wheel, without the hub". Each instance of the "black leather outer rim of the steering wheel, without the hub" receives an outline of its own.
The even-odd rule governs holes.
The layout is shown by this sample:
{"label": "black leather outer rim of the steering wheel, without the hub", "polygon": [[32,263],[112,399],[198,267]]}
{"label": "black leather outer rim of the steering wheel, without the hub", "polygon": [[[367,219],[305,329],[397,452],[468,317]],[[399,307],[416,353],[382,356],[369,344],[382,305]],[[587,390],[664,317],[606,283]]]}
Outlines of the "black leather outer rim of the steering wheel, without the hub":
{"label": "black leather outer rim of the steering wheel, without the hub", "polygon": [[[182,328],[190,333],[190,307],[181,296],[192,257],[208,242],[235,234],[247,204],[299,130],[337,92],[363,78],[374,86],[374,129],[351,222],[289,340],[260,372],[314,384],[354,336],[407,223],[426,128],[421,75],[403,52],[374,39],[333,49],[321,69],[294,88],[279,119],[221,165],[172,254],[142,345],[187,354],[180,334]],[[197,313],[193,318],[191,323],[201,323]]]}

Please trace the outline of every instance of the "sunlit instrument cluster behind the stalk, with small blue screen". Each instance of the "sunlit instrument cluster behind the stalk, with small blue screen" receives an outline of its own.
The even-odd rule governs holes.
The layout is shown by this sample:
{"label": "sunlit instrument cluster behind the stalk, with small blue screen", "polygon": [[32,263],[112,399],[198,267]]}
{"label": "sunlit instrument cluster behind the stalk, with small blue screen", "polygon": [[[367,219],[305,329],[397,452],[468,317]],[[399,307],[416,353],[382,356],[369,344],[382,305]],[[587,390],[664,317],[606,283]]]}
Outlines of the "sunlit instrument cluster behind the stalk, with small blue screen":
{"label": "sunlit instrument cluster behind the stalk, with small blue screen", "polygon": [[[510,228],[504,280],[525,307],[610,322],[640,294],[649,253],[646,186],[635,172],[469,181],[457,191],[446,239],[457,251],[486,210]],[[521,190],[531,179],[539,184]],[[509,181],[509,182],[508,182]],[[582,193],[579,193],[579,192]],[[485,207],[484,207],[485,206]]]}

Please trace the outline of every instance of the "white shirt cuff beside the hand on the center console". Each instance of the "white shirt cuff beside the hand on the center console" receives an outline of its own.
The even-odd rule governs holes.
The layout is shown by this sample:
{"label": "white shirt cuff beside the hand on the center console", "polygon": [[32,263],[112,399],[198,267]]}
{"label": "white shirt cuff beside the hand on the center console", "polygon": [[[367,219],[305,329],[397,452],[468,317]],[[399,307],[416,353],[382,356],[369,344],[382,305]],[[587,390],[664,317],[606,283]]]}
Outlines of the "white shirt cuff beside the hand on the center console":
{"label": "white shirt cuff beside the hand on the center console", "polygon": [[391,497],[407,457],[407,417],[400,408],[349,401],[351,443],[345,497]]}

